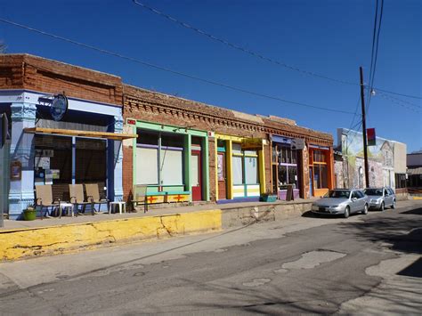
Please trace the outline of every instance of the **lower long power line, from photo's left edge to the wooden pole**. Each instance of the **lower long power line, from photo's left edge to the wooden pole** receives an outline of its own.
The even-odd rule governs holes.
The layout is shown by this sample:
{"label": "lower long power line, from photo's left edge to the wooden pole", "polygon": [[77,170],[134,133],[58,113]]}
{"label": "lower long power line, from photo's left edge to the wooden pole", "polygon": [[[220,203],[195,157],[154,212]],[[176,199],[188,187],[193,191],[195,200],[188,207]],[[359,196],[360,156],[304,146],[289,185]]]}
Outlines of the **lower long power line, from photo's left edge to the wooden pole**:
{"label": "lower long power line, from photo's left edge to the wooden pole", "polygon": [[118,58],[124,59],[126,61],[133,61],[133,62],[142,64],[143,66],[147,66],[147,67],[150,67],[150,68],[153,68],[153,69],[163,70],[163,71],[172,73],[174,75],[182,76],[182,77],[188,77],[188,78],[191,78],[191,79],[194,79],[194,80],[203,82],[203,83],[207,83],[207,84],[210,84],[210,85],[222,86],[224,88],[227,88],[227,89],[230,89],[230,90],[233,90],[233,91],[237,91],[237,92],[241,92],[241,93],[248,93],[250,95],[259,96],[259,97],[262,97],[262,98],[265,98],[265,99],[274,100],[274,101],[281,101],[281,102],[291,103],[291,104],[299,105],[299,106],[306,107],[306,108],[322,109],[322,110],[331,111],[331,112],[337,112],[337,113],[353,114],[353,112],[346,111],[346,110],[343,110],[343,109],[329,109],[329,108],[324,108],[324,107],[320,107],[320,106],[316,106],[316,105],[312,105],[312,104],[307,104],[307,103],[303,103],[303,102],[289,101],[289,100],[286,100],[286,99],[282,99],[282,98],[279,98],[279,97],[276,97],[276,96],[272,96],[272,95],[268,95],[268,94],[264,94],[264,93],[256,93],[256,92],[249,91],[249,90],[246,90],[246,89],[243,89],[243,88],[239,88],[239,87],[236,87],[236,86],[226,85],[226,84],[222,84],[222,83],[219,83],[219,82],[216,82],[216,81],[212,81],[212,80],[209,80],[209,79],[205,79],[205,78],[201,78],[201,77],[196,77],[196,76],[193,76],[193,75],[190,75],[190,74],[186,74],[186,73],[183,73],[183,72],[180,72],[180,71],[177,71],[177,70],[167,69],[165,67],[158,66],[158,65],[152,64],[150,62],[140,61],[140,60],[134,59],[132,57],[128,57],[128,56],[122,55],[120,53],[114,53],[114,52],[110,52],[110,51],[107,51],[107,50],[104,50],[104,49],[101,49],[101,48],[97,48],[97,47],[95,47],[93,45],[86,45],[84,43],[80,43],[80,42],[74,41],[74,40],[69,39],[69,38],[66,38],[66,37],[57,36],[57,35],[54,35],[54,34],[51,34],[51,33],[47,33],[45,31],[39,30],[37,28],[30,28],[30,27],[28,27],[26,25],[13,22],[11,20],[4,20],[4,19],[1,19],[0,18],[0,21],[2,21],[4,23],[7,23],[7,24],[11,24],[11,25],[13,25],[15,27],[27,29],[29,31],[32,31],[32,32],[35,32],[35,33],[38,33],[38,34],[41,34],[41,35],[44,35],[44,36],[50,36],[50,37],[53,37],[55,39],[59,39],[61,41],[64,41],[64,42],[67,42],[67,43],[70,43],[70,44],[73,44],[73,45],[79,45],[79,46],[82,46],[82,47],[91,49],[93,51],[96,51],[96,52],[105,53],[105,54],[108,54],[108,55],[111,55],[111,56],[114,56],[114,57],[118,57]]}

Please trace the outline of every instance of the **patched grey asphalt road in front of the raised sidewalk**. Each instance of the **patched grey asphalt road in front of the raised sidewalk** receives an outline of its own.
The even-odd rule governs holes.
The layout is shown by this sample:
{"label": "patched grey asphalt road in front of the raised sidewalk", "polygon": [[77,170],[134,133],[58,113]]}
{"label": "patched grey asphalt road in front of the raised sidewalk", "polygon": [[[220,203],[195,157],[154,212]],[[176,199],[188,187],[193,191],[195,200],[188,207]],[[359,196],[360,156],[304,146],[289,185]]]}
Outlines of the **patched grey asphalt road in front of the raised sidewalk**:
{"label": "patched grey asphalt road in front of the raised sidewalk", "polygon": [[422,201],[0,264],[8,314],[420,314]]}

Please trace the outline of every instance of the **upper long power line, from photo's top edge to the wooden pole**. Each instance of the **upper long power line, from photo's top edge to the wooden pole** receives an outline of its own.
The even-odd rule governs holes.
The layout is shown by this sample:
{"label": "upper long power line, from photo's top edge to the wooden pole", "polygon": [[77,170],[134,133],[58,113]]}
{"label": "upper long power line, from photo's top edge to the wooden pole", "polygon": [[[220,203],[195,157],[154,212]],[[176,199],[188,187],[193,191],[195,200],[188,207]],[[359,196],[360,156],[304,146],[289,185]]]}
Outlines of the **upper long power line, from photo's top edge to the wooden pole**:
{"label": "upper long power line, from photo's top edge to the wooden pole", "polygon": [[157,9],[155,9],[153,7],[150,7],[147,4],[140,3],[140,2],[138,2],[136,0],[133,0],[133,2],[134,2],[134,4],[137,4],[137,5],[141,6],[142,8],[144,8],[144,9],[150,11],[150,12],[153,12],[153,13],[155,13],[155,14],[157,14],[157,15],[159,15],[159,16],[167,19],[167,20],[171,20],[172,22],[174,22],[174,23],[182,26],[183,28],[191,29],[192,31],[195,31],[195,32],[199,33],[202,36],[207,36],[209,39],[211,39],[211,40],[213,40],[215,42],[219,42],[219,43],[222,43],[223,45],[230,46],[231,48],[236,49],[236,50],[238,50],[240,52],[248,53],[249,55],[252,55],[252,56],[254,56],[256,58],[259,58],[261,60],[271,62],[273,64],[279,65],[279,66],[284,67],[286,69],[290,69],[290,70],[294,70],[294,71],[300,72],[300,73],[302,73],[304,75],[307,75],[307,76],[319,77],[319,78],[322,78],[322,79],[334,81],[334,82],[337,82],[337,83],[340,83],[340,84],[344,84],[344,85],[359,85],[359,84],[357,84],[355,82],[352,82],[352,81],[341,80],[341,79],[337,79],[337,78],[333,78],[333,77],[328,77],[328,76],[325,76],[325,75],[321,75],[321,74],[318,74],[316,72],[312,72],[312,71],[308,71],[308,70],[304,70],[304,69],[299,69],[296,66],[288,65],[287,63],[285,63],[283,61],[276,61],[276,60],[274,60],[274,59],[272,59],[270,57],[264,56],[261,53],[256,53],[255,51],[251,51],[248,48],[242,47],[242,46],[237,45],[237,44],[233,44],[233,43],[231,43],[231,42],[229,42],[229,41],[227,41],[227,40],[225,40],[223,38],[214,36],[214,35],[206,32],[206,31],[204,31],[204,30],[202,30],[200,28],[195,28],[195,27],[191,26],[190,24],[188,24],[186,22],[183,22],[182,20],[178,20],[178,19],[172,17],[171,15],[168,15],[168,14],[166,14],[164,12],[160,12]]}

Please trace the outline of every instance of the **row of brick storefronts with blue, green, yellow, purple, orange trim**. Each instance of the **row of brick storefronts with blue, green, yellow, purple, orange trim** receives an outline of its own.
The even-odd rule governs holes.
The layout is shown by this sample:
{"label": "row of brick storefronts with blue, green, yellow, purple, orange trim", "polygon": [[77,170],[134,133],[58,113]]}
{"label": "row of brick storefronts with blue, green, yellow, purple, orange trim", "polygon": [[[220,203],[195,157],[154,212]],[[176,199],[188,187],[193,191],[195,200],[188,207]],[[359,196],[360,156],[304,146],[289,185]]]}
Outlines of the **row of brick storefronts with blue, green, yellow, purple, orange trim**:
{"label": "row of brick storefronts with blue, green, yellow, purple, orange trim", "polygon": [[[0,112],[11,136],[0,150],[0,205],[9,218],[37,201],[40,184],[64,201],[69,184],[96,183],[104,197],[124,201],[134,185],[146,185],[150,204],[306,199],[333,188],[332,136],[294,121],[143,90],[36,56],[2,55],[0,69]],[[67,101],[59,118],[58,96]]]}

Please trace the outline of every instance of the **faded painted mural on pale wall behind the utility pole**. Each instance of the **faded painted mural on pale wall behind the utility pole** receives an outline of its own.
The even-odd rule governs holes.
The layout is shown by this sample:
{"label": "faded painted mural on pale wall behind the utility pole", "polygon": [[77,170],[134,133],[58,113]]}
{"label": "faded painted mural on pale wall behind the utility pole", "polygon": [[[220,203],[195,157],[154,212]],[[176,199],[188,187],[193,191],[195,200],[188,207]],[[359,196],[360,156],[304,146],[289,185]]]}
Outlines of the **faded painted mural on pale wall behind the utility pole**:
{"label": "faded painted mural on pale wall behind the utility pole", "polygon": [[[340,128],[341,150],[345,163],[345,182],[350,188],[365,187],[362,134]],[[374,146],[368,147],[369,187],[394,188],[394,142],[377,137]]]}

